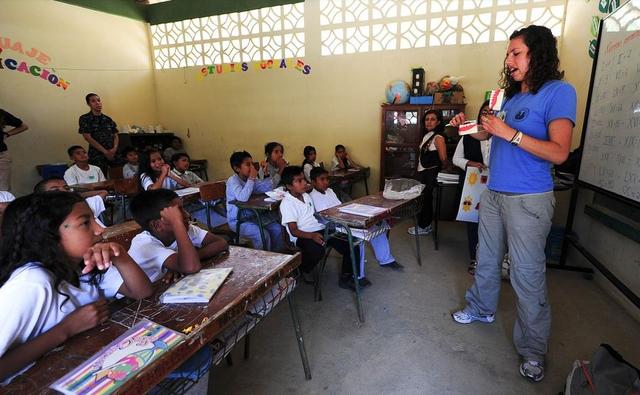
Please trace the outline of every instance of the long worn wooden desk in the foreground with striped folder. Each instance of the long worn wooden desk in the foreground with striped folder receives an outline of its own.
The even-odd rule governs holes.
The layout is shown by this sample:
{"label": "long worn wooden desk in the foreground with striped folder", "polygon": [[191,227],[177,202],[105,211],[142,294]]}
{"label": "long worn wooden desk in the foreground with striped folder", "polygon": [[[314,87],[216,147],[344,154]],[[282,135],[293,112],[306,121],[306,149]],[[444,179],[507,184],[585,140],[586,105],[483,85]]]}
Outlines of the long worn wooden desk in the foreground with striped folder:
{"label": "long worn wooden desk in the foreground with striped folder", "polygon": [[[300,254],[284,255],[268,251],[230,247],[229,253],[210,261],[215,267],[232,267],[222,287],[208,304],[162,304],[158,301],[167,284],[154,284],[156,292],[141,302],[125,298],[112,302],[112,314],[104,324],[74,336],[62,346],[40,358],[36,364],[6,387],[3,393],[54,393],[49,384],[73,370],[102,347],[146,318],[177,332],[186,339],[167,351],[152,365],[127,381],[116,393],[142,394],[160,383],[200,348],[218,338],[230,325],[248,313],[249,306],[260,301],[281,280],[286,280],[300,265]],[[293,296],[287,295],[291,318],[305,377],[311,378]]]}

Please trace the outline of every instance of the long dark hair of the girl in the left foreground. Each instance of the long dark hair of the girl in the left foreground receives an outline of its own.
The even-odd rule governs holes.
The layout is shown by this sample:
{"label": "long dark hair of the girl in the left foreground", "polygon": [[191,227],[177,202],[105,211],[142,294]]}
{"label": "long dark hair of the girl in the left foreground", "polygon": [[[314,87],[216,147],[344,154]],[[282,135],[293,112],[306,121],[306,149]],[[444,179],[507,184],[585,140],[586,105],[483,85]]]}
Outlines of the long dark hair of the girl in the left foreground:
{"label": "long dark hair of the girl in the left foreground", "polygon": [[[60,245],[60,225],[84,199],[73,192],[51,191],[19,197],[9,204],[2,221],[0,240],[0,286],[9,280],[14,270],[27,263],[37,263],[55,278],[54,289],[66,281],[79,285],[79,267],[71,261]],[[96,283],[97,271],[90,282]],[[66,302],[66,300],[65,300]]]}

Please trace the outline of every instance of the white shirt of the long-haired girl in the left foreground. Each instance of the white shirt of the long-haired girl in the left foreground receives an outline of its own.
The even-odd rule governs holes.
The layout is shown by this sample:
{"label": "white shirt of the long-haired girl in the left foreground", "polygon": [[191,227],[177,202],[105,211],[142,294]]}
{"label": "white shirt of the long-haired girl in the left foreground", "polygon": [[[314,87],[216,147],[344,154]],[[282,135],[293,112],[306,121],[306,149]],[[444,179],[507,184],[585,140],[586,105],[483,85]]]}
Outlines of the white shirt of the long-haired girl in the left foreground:
{"label": "white shirt of the long-haired girl in the left foreground", "polygon": [[[67,299],[56,291],[53,273],[40,264],[30,262],[14,270],[0,287],[0,356],[53,328],[79,307],[114,297],[124,282],[115,266],[107,270],[98,285],[86,282],[88,278],[81,276],[79,287],[61,282],[58,289],[68,295]],[[18,374],[1,384],[8,384]]]}

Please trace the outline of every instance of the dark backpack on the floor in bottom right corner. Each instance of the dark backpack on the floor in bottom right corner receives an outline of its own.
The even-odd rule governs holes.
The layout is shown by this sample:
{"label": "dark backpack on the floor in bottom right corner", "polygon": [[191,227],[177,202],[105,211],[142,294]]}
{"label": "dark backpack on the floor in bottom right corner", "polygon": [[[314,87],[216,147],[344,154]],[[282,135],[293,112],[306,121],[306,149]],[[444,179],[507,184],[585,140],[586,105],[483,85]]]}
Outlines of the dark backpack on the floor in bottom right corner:
{"label": "dark backpack on the floor in bottom right corner", "polygon": [[564,395],[640,394],[640,371],[608,344],[601,344],[591,361],[576,360]]}

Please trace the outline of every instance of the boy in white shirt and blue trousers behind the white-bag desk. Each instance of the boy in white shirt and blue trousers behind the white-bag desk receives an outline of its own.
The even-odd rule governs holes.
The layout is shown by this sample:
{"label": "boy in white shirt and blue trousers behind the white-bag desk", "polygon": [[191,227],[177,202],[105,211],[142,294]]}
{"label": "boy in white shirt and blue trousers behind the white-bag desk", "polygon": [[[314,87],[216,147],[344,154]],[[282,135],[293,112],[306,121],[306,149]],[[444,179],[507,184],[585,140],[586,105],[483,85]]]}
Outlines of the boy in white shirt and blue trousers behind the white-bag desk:
{"label": "boy in white shirt and blue trousers behind the white-bag desk", "polygon": [[[311,183],[313,184],[313,190],[311,191],[311,199],[316,211],[320,212],[331,207],[339,206],[342,204],[340,199],[336,196],[335,192],[329,188],[329,172],[321,167],[316,167],[311,170]],[[380,232],[389,229],[389,225],[386,222],[382,222],[379,225],[374,225],[367,229],[368,233]],[[338,231],[340,228],[338,228]],[[353,236],[357,238],[363,238],[365,236],[363,231],[357,229],[352,230]],[[380,266],[402,270],[403,266],[396,262],[393,255],[391,255],[391,248],[389,247],[389,239],[387,239],[386,232],[374,237],[370,240],[373,252],[376,255],[376,259],[380,263]],[[364,278],[364,243],[360,243],[360,276]]]}

